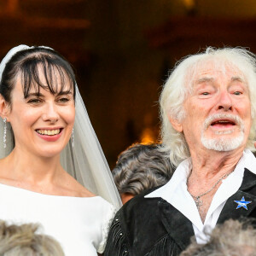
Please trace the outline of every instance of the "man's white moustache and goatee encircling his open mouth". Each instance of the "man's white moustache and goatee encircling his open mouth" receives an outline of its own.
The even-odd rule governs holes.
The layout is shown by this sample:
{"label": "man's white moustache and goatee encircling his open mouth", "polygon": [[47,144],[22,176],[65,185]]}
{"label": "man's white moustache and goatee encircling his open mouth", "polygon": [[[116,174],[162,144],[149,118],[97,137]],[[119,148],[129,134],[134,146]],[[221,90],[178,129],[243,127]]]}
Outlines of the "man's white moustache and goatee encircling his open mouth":
{"label": "man's white moustache and goatee encircling his open mouth", "polygon": [[[207,127],[212,123],[213,119],[232,119],[236,122],[236,125],[239,125],[240,132],[238,136],[227,138],[227,137],[215,137],[215,138],[207,138],[205,137],[205,131],[207,130]],[[228,130],[228,131],[217,131],[216,134],[230,134],[234,131]],[[207,149],[212,149],[215,151],[231,151],[241,146],[241,143],[244,140],[244,125],[242,123],[242,120],[238,116],[230,115],[230,114],[224,114],[224,113],[218,113],[213,114],[212,116],[208,117],[205,120],[204,129],[201,132],[201,143],[204,147]]]}

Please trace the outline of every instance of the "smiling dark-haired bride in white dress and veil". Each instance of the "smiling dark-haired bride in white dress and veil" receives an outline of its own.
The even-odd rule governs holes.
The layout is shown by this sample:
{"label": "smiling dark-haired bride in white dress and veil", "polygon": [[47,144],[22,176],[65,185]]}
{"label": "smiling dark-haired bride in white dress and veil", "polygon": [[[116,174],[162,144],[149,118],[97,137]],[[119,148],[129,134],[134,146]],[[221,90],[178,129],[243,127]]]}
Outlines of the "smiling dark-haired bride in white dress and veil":
{"label": "smiling dark-haired bride in white dress and veil", "polygon": [[103,253],[120,200],[69,63],[44,46],[11,49],[0,116],[0,219],[41,223],[67,256]]}

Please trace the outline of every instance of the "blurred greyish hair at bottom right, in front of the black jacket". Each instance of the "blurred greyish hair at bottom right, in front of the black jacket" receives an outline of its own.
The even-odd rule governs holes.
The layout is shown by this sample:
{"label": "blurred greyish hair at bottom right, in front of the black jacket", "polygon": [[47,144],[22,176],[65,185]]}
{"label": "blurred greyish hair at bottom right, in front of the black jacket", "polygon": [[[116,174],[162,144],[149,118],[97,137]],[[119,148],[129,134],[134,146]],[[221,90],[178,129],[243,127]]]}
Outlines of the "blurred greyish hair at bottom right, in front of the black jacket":
{"label": "blurred greyish hair at bottom right, in front of the black jacket", "polygon": [[212,230],[210,241],[197,244],[195,236],[180,256],[255,256],[256,230],[250,220],[229,219]]}

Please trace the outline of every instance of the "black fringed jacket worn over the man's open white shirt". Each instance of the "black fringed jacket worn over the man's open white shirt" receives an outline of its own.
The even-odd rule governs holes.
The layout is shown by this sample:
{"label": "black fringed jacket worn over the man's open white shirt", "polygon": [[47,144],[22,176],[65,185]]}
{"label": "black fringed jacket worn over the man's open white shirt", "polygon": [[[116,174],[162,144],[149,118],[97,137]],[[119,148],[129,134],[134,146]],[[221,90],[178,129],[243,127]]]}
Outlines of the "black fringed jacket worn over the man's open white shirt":
{"label": "black fringed jacket worn over the man's open white shirt", "polygon": [[[158,188],[154,188],[158,189]],[[128,201],[111,225],[104,256],[176,256],[194,236],[192,223],[161,198],[144,198],[154,189]],[[252,201],[236,209],[242,196]],[[256,218],[256,175],[245,169],[240,189],[226,201],[218,224],[226,219]]]}

